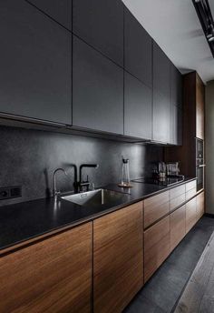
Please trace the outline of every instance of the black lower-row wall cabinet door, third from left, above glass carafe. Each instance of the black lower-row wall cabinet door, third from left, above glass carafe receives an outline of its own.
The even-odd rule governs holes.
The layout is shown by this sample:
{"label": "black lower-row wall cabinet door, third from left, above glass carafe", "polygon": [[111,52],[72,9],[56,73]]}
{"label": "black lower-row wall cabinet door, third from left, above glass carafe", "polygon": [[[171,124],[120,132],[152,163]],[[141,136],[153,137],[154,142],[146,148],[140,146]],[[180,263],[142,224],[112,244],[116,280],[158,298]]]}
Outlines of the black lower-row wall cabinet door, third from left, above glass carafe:
{"label": "black lower-row wall cabinet door, third from left, above glass carafe", "polygon": [[151,88],[128,73],[124,83],[124,134],[151,139]]}

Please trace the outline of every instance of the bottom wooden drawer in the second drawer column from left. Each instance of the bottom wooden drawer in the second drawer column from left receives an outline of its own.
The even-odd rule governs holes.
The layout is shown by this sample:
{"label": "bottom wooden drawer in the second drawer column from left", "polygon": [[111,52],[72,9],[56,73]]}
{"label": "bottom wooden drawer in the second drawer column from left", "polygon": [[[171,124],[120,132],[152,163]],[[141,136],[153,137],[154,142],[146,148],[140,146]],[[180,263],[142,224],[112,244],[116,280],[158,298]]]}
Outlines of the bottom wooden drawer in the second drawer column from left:
{"label": "bottom wooden drawer in the second drawer column from left", "polygon": [[186,235],[186,207],[182,206],[170,214],[170,251]]}

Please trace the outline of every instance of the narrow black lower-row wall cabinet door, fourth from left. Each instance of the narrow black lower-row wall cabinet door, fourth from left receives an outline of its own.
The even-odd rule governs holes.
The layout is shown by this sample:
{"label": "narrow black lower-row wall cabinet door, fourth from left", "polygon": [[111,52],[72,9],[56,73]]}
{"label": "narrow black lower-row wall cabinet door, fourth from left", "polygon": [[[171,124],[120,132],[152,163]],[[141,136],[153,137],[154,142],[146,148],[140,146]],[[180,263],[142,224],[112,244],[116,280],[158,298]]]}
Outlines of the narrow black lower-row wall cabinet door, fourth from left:
{"label": "narrow black lower-row wall cabinet door, fourth from left", "polygon": [[153,92],[153,140],[170,143],[170,99]]}

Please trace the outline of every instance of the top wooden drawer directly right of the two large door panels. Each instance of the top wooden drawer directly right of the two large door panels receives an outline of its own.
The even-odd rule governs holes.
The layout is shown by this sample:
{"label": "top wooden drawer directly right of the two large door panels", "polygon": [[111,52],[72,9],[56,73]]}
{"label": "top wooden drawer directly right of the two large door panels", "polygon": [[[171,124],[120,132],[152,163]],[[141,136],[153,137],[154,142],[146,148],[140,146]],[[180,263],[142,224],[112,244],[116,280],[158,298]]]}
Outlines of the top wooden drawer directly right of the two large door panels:
{"label": "top wooden drawer directly right of the two large door panels", "polygon": [[149,227],[170,212],[169,198],[168,191],[144,200],[144,228]]}

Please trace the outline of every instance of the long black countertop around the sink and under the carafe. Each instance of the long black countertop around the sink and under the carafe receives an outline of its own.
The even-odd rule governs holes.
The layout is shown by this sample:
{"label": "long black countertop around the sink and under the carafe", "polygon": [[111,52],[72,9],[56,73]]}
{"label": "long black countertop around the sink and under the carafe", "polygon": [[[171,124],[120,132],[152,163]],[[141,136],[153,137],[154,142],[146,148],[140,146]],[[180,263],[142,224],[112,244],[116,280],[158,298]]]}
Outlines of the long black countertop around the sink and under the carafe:
{"label": "long black countertop around the sink and under the carafe", "polygon": [[185,178],[180,184],[171,187],[131,182],[131,188],[122,190],[115,184],[108,185],[105,188],[126,192],[120,199],[115,200],[113,205],[108,206],[80,207],[63,199],[55,202],[53,198],[44,198],[0,207],[0,251],[8,247],[15,247],[26,240],[44,234],[48,235],[48,233],[63,227],[83,224],[85,221],[101,217],[194,179],[196,178]]}

